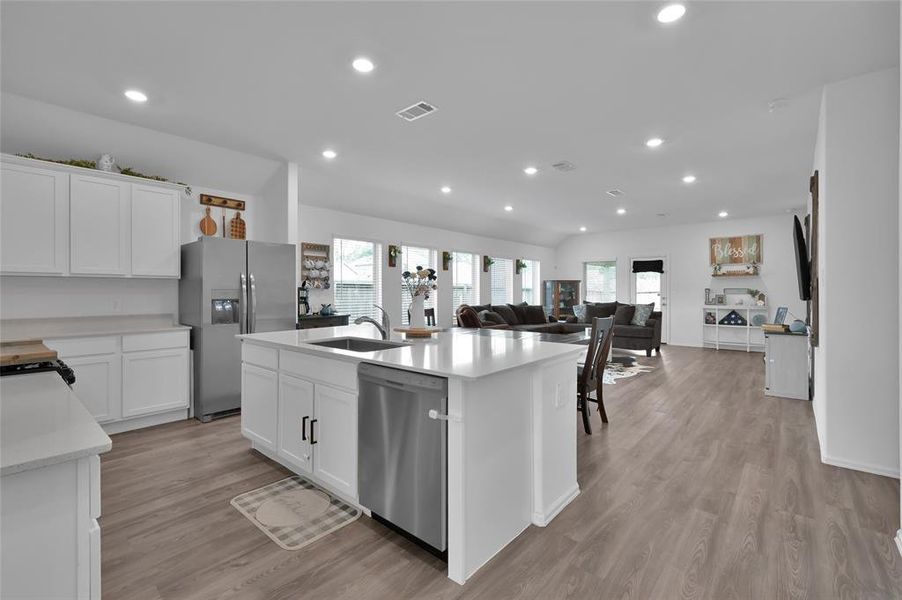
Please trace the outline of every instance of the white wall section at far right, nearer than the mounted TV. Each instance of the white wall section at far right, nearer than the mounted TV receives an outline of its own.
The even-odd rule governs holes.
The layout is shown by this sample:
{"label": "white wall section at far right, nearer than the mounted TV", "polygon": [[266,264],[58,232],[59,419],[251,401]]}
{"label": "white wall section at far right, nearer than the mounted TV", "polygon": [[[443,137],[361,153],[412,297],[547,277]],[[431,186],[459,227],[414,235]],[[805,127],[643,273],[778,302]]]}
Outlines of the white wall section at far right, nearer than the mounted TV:
{"label": "white wall section at far right, nearer than the mounted TV", "polygon": [[821,110],[821,457],[898,476],[898,69],[825,86]]}

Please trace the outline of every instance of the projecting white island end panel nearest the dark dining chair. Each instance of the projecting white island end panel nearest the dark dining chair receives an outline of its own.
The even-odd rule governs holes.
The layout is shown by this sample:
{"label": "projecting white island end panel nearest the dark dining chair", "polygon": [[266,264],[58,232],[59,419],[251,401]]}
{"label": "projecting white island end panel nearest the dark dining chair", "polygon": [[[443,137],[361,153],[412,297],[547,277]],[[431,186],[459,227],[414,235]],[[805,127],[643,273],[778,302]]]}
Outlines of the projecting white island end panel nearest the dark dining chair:
{"label": "projecting white island end panel nearest the dark dining chair", "polygon": [[532,374],[532,522],[540,527],[579,494],[575,364],[573,357],[566,357],[545,363]]}

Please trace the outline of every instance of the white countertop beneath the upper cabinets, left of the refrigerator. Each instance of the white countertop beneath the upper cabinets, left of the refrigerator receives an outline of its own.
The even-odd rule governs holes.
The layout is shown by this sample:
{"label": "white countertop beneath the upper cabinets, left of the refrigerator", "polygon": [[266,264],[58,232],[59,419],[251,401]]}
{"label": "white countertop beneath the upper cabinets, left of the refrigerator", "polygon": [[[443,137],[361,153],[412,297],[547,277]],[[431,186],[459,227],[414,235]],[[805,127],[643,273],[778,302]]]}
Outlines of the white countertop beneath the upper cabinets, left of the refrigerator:
{"label": "white countertop beneath the upper cabinets, left of the refrigerator", "polygon": [[46,340],[125,333],[153,333],[191,329],[172,315],[119,315],[110,317],[57,317],[53,319],[3,319],[0,340]]}

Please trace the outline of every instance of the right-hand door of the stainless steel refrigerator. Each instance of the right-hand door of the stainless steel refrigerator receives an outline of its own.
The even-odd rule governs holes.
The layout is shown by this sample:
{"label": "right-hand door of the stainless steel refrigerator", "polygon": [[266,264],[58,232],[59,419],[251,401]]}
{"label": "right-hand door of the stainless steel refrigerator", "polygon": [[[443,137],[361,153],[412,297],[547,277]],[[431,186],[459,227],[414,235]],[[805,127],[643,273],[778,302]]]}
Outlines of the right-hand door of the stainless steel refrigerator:
{"label": "right-hand door of the stainless steel refrigerator", "polygon": [[294,329],[297,320],[297,275],[294,244],[247,243],[253,333]]}

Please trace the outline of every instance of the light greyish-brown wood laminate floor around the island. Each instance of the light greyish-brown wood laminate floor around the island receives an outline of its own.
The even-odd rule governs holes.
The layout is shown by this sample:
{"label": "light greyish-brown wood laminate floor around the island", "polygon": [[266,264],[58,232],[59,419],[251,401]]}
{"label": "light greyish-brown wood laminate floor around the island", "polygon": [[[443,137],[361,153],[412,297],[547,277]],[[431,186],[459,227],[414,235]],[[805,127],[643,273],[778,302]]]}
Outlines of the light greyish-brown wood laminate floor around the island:
{"label": "light greyish-brown wood laminate floor around the island", "polygon": [[[362,517],[289,552],[229,505],[288,474],[238,418],[113,436],[103,597],[899,598],[897,480],[821,464],[811,406],[765,397],[760,354],[665,347],[579,429],[582,493],[463,587]],[[866,393],[863,391],[863,393]]]}

